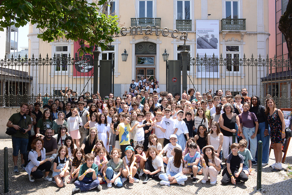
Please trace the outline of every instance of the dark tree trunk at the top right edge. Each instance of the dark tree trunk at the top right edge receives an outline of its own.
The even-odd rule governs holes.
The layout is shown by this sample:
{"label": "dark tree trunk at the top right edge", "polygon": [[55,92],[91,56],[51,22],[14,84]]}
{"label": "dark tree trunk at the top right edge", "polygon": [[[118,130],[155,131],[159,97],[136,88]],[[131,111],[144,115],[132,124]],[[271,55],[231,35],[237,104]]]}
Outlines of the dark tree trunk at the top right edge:
{"label": "dark tree trunk at the top right edge", "polygon": [[286,11],[279,20],[279,30],[286,39],[290,65],[292,66],[292,0],[289,0]]}

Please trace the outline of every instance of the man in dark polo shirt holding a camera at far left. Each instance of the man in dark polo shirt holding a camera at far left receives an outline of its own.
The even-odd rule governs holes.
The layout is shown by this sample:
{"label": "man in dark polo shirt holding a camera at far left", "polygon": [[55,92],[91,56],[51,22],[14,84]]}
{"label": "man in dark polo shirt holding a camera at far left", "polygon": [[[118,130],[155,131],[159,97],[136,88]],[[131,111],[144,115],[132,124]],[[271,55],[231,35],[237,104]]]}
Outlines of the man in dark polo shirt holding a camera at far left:
{"label": "man in dark polo shirt holding a camera at far left", "polygon": [[13,127],[16,129],[16,133],[12,135],[12,147],[13,147],[13,162],[14,168],[13,172],[18,172],[17,160],[18,160],[18,152],[20,150],[21,154],[21,168],[23,167],[24,159],[23,154],[26,153],[26,148],[28,144],[28,131],[32,128],[32,119],[30,116],[26,115],[26,110],[28,109],[27,103],[20,104],[20,112],[13,114],[6,126]]}

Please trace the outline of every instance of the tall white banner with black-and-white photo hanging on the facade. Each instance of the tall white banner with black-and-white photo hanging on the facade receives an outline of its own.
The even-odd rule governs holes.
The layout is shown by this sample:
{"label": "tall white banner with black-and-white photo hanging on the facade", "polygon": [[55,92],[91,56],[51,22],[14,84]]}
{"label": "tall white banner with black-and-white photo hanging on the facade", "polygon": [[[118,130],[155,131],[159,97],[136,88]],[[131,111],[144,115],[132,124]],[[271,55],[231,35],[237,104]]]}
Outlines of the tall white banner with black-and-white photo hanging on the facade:
{"label": "tall white banner with black-and-white photo hanging on the facade", "polygon": [[[219,58],[219,20],[196,20],[196,39],[200,59]],[[219,78],[217,61],[197,66],[197,78]]]}

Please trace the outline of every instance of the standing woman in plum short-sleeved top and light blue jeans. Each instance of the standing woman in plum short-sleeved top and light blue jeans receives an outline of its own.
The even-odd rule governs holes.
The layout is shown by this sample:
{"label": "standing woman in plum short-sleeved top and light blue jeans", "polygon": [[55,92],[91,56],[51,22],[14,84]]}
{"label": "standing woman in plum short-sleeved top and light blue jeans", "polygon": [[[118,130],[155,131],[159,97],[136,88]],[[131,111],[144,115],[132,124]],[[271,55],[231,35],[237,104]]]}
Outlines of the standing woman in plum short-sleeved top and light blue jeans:
{"label": "standing woman in plum short-sleeved top and light blue jeans", "polygon": [[[238,115],[240,125],[242,126],[243,137],[247,141],[247,145],[250,143],[250,151],[253,157],[253,164],[256,164],[254,161],[256,157],[256,146],[257,139],[256,134],[258,130],[258,122],[255,113],[249,112],[250,104],[248,102],[244,102],[242,104],[243,112]],[[256,126],[254,125],[256,123]]]}

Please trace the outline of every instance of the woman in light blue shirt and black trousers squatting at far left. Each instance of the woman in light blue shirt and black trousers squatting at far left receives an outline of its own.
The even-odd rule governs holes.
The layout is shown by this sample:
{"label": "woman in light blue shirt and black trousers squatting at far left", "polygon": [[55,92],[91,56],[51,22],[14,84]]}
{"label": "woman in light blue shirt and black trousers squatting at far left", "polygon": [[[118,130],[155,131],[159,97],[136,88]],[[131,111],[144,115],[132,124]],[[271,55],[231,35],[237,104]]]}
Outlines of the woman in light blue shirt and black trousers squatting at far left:
{"label": "woman in light blue shirt and black trousers squatting at far left", "polygon": [[[51,170],[51,158],[46,159],[46,149],[43,148],[44,141],[37,137],[33,140],[31,147],[32,151],[28,153],[28,160],[30,160],[26,167],[25,171],[28,173],[29,180],[34,182],[35,179],[40,179],[44,176],[44,179],[47,181],[52,181],[48,175]],[[43,174],[45,170],[45,174]]]}

